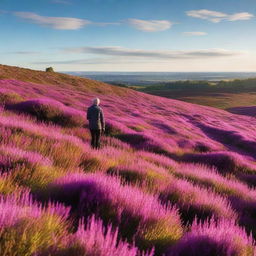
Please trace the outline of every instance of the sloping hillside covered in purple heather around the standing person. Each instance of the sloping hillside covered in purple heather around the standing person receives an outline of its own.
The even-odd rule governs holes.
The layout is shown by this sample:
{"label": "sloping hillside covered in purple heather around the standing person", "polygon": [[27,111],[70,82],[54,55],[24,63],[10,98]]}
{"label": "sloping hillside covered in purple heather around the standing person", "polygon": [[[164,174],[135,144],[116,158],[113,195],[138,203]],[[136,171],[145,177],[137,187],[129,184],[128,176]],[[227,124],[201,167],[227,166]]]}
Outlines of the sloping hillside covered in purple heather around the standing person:
{"label": "sloping hillside covered in purple heather around the standing person", "polygon": [[0,78],[0,255],[254,255],[255,118],[57,73]]}

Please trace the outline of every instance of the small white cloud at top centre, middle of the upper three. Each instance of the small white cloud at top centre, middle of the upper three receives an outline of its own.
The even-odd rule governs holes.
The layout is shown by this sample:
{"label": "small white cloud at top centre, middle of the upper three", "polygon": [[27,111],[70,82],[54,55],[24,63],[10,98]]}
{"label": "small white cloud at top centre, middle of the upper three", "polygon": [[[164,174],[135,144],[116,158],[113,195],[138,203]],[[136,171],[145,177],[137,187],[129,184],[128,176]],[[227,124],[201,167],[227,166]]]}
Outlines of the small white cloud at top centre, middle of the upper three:
{"label": "small white cloud at top centre, middle of the upper three", "polygon": [[128,19],[127,22],[132,27],[145,32],[164,31],[171,28],[173,25],[173,23],[169,20]]}

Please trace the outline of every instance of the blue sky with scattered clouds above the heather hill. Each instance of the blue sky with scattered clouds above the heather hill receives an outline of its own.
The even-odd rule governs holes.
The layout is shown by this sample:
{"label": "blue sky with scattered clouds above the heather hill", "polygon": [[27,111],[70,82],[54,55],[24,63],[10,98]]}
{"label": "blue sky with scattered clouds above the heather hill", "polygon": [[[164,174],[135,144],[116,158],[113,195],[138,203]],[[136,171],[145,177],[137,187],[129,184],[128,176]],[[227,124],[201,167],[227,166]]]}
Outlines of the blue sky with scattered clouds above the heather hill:
{"label": "blue sky with scattered clouds above the heather hill", "polygon": [[0,63],[256,71],[255,30],[255,0],[0,0]]}

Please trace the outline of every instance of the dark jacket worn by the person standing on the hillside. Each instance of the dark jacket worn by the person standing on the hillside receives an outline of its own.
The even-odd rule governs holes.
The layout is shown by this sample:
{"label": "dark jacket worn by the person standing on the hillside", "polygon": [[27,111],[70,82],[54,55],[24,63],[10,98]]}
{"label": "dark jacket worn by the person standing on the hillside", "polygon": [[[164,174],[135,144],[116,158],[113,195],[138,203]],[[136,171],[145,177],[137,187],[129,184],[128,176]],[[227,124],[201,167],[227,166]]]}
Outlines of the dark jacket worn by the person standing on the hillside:
{"label": "dark jacket worn by the person standing on the hillside", "polygon": [[99,106],[92,105],[88,108],[87,120],[91,130],[105,130],[104,114]]}

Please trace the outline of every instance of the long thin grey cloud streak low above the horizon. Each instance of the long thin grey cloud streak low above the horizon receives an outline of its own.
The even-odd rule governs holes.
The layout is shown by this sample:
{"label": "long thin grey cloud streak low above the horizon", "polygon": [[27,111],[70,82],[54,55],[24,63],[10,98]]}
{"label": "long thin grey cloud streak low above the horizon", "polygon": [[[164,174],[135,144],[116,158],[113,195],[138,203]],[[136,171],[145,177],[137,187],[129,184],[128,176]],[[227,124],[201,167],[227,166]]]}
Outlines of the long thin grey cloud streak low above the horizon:
{"label": "long thin grey cloud streak low above the horizon", "polygon": [[213,57],[230,57],[244,54],[241,51],[229,51],[225,49],[195,50],[195,51],[157,51],[128,49],[118,46],[113,47],[78,47],[66,48],[66,53],[86,53],[94,55],[107,55],[133,58],[156,58],[156,59],[188,59],[188,58],[213,58]]}

